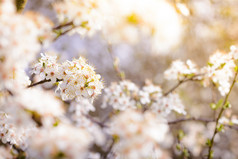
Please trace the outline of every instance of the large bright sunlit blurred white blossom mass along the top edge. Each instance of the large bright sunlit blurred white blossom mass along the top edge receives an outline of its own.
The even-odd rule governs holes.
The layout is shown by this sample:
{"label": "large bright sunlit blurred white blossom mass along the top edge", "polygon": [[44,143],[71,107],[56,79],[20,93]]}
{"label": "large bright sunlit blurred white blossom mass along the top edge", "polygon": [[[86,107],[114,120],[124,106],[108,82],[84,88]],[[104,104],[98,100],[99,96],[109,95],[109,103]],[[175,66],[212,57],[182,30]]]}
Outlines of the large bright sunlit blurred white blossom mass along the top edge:
{"label": "large bright sunlit blurred white blossom mass along the top edge", "polygon": [[76,26],[71,33],[101,31],[113,44],[150,37],[155,53],[169,51],[182,35],[179,15],[165,0],[65,0],[54,9],[61,24]]}

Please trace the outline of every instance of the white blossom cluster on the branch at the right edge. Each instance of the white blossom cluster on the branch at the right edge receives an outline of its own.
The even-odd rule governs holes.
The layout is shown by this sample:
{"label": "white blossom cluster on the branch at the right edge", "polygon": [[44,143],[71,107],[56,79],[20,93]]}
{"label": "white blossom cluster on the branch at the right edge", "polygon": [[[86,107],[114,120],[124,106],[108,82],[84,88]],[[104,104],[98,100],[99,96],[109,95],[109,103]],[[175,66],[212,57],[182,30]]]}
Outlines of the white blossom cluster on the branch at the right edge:
{"label": "white blossom cluster on the branch at the right edge", "polygon": [[176,60],[164,75],[168,80],[182,81],[189,78],[200,80],[205,87],[212,82],[218,87],[220,94],[225,96],[230,90],[231,79],[237,71],[237,59],[237,48],[231,46],[229,53],[215,52],[210,56],[207,66],[200,69],[190,60],[187,60],[186,64]]}

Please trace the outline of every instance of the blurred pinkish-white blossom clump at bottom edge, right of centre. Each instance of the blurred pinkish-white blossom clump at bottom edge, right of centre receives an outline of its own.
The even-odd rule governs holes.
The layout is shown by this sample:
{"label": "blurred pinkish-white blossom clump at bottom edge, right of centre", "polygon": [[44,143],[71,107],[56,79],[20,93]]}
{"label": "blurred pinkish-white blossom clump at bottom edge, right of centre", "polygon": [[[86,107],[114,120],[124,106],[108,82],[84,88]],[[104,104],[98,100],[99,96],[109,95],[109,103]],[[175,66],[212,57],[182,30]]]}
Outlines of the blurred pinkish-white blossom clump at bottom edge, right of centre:
{"label": "blurred pinkish-white blossom clump at bottom edge, right of centre", "polygon": [[[127,109],[115,116],[111,122],[111,134],[119,137],[113,152],[117,158],[161,158],[163,152],[159,143],[164,142],[168,125],[162,118],[152,112],[142,114],[139,111]],[[156,157],[155,157],[156,156]]]}

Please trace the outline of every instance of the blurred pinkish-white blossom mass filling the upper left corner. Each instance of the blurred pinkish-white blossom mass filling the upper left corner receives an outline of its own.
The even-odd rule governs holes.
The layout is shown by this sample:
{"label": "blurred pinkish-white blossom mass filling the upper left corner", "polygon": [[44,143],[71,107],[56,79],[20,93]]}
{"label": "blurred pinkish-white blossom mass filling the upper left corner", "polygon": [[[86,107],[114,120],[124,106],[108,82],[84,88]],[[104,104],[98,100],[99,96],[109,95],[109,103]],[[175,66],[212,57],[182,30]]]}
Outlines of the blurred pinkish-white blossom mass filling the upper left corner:
{"label": "blurred pinkish-white blossom mass filling the upper left corner", "polygon": [[50,38],[52,23],[33,12],[16,13],[15,1],[0,3],[0,89],[8,87],[16,91],[15,85],[9,86],[8,81],[14,83],[16,72],[23,71],[34,60],[41,48],[39,38],[42,42]]}

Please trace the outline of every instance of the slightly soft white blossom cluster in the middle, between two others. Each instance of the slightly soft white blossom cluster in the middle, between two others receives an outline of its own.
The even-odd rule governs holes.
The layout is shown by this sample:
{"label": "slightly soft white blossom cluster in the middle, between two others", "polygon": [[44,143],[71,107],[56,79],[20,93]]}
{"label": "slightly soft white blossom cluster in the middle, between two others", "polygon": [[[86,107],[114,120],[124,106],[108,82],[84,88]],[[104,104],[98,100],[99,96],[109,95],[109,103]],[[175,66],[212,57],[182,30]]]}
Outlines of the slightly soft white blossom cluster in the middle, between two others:
{"label": "slightly soft white blossom cluster in the middle, between two others", "polygon": [[104,89],[102,107],[112,106],[115,110],[126,110],[127,108],[150,109],[158,114],[167,116],[172,110],[186,114],[184,105],[175,92],[164,96],[160,86],[148,82],[139,89],[130,81],[112,83]]}

